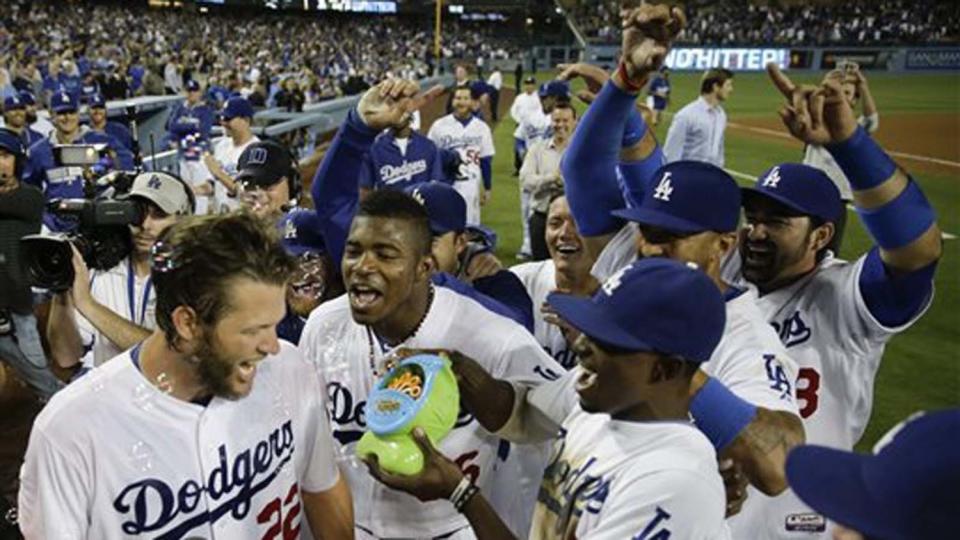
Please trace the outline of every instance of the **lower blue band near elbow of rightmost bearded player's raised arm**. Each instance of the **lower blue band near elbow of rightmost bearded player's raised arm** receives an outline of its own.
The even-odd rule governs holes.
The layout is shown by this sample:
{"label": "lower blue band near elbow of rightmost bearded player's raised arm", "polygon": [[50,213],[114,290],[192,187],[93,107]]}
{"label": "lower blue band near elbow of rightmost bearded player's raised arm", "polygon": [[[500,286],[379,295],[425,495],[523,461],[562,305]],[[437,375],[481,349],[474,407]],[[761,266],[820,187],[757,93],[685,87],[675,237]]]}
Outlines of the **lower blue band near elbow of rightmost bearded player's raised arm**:
{"label": "lower blue band near elbow of rightmost bearded player's raised arm", "polygon": [[927,232],[936,214],[920,186],[913,180],[897,198],[879,207],[857,208],[870,236],[883,249],[903,247]]}

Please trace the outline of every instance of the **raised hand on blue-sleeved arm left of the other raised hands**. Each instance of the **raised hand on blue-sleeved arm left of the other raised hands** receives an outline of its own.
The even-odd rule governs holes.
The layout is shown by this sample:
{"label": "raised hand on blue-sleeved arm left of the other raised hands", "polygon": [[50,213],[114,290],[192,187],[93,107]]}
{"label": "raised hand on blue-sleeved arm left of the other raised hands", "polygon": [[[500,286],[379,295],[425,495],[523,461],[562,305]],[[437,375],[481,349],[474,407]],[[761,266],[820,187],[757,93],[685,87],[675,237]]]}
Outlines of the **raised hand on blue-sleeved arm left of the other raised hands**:
{"label": "raised hand on blue-sleeved arm left of the other raised hands", "polygon": [[387,79],[367,90],[357,104],[357,112],[368,127],[382,130],[403,127],[416,111],[443,93],[436,85],[420,93],[420,85],[403,79]]}

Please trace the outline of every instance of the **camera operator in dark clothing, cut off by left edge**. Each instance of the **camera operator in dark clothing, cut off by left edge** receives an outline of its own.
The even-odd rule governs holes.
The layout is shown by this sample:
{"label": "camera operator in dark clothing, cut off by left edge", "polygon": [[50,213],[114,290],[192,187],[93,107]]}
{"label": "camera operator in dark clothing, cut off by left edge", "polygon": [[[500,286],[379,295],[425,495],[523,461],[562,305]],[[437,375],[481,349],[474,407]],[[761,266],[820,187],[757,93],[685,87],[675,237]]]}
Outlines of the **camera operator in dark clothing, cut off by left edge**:
{"label": "camera operator in dark clothing, cut off by left edge", "polygon": [[0,128],[0,358],[46,401],[63,387],[47,366],[20,238],[40,231],[43,195],[20,181],[26,162],[16,132]]}

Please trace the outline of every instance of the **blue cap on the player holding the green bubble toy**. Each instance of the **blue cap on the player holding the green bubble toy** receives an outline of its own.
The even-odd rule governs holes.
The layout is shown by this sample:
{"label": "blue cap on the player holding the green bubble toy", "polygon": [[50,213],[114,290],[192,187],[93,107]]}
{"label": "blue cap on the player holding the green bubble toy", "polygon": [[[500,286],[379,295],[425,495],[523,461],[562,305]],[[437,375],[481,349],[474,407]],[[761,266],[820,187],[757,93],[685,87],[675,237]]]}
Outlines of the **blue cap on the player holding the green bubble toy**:
{"label": "blue cap on the player holding the green bubble toy", "polygon": [[720,289],[692,263],[654,257],[624,267],[593,298],[551,293],[557,313],[601,344],[706,362],[727,314]]}

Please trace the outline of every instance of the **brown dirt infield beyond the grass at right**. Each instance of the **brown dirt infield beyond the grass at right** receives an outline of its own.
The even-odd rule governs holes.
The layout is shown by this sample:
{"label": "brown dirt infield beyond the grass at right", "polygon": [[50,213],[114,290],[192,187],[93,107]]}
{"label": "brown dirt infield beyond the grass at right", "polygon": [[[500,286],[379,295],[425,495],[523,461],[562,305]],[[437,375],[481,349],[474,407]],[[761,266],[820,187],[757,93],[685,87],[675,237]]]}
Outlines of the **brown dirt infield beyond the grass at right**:
{"label": "brown dirt infield beyond the grass at right", "polygon": [[[730,129],[738,129],[766,141],[782,140],[784,144],[800,146],[778,118],[735,120],[730,123]],[[775,138],[772,139],[771,135],[775,135]],[[960,176],[960,116],[956,114],[881,114],[876,138],[910,170]]]}

